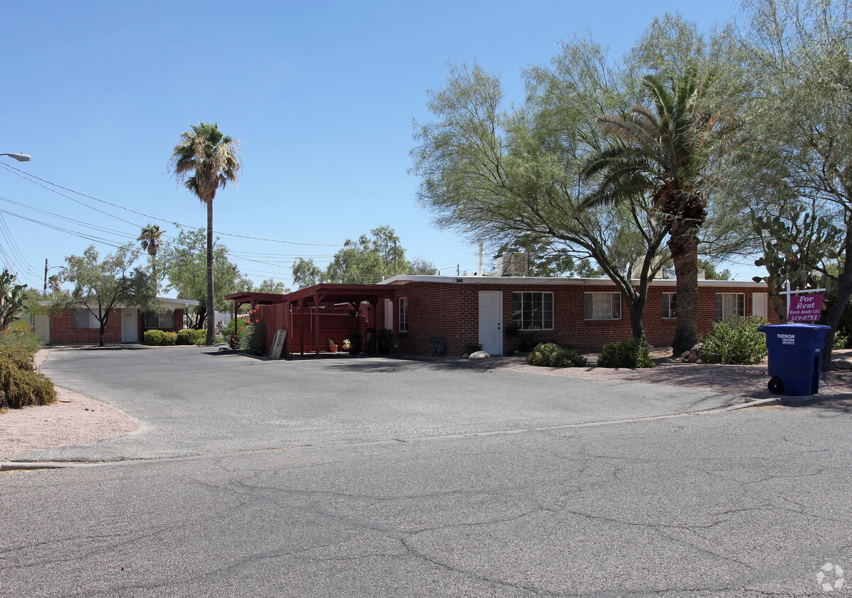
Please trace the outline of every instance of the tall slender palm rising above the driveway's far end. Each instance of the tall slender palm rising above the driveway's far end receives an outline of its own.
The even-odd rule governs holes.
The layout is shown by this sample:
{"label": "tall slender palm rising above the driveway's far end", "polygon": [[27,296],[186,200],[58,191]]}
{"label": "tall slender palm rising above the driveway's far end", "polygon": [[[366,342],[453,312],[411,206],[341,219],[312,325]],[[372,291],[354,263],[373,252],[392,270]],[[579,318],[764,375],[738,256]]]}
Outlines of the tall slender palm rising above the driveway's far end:
{"label": "tall slender palm rising above the driveway's far end", "polygon": [[219,130],[218,122],[199,122],[181,133],[172,151],[170,167],[207,206],[207,345],[216,342],[216,303],[213,298],[213,199],[216,190],[237,182],[239,140]]}

